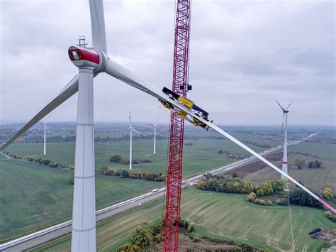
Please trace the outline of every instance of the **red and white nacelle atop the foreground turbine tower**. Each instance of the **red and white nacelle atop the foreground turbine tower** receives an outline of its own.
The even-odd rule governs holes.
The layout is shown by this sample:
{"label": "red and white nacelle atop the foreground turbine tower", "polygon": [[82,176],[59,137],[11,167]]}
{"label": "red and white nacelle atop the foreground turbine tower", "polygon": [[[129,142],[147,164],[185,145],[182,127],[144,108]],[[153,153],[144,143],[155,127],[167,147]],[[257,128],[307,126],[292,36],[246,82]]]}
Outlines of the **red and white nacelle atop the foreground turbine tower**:
{"label": "red and white nacelle atop the foreground turbine tower", "polygon": [[108,56],[94,48],[83,48],[70,46],[68,50],[69,59],[79,68],[89,68],[94,72],[103,72]]}

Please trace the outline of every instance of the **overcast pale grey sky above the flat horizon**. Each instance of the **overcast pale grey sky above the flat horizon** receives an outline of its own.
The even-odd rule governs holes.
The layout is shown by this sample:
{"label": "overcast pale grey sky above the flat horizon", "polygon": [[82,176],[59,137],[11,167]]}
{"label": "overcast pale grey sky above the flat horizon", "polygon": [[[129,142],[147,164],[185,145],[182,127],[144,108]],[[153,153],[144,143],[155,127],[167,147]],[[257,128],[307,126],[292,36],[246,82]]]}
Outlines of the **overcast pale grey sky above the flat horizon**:
{"label": "overcast pale grey sky above the flat horizon", "polygon": [[[26,122],[78,72],[67,49],[91,45],[89,1],[0,0],[0,124]],[[335,125],[335,1],[192,0],[188,96],[215,124]],[[174,0],[104,1],[108,55],[157,89],[172,87]],[[160,103],[94,79],[95,121],[169,122]],[[75,121],[77,94],[50,121]]]}

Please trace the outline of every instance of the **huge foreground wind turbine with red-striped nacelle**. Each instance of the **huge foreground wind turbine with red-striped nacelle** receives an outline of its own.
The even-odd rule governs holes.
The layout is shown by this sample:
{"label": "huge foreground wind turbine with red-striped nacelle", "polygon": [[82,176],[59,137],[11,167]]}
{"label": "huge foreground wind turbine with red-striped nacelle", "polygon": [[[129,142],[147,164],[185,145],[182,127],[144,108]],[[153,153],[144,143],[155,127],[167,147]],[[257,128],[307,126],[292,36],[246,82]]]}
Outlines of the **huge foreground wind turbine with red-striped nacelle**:
{"label": "huge foreground wind turbine with red-striped nacelle", "polygon": [[[74,197],[72,209],[72,251],[96,251],[96,197],[94,184],[94,96],[93,79],[101,72],[115,77],[130,86],[140,89],[159,99],[167,109],[173,113],[183,116],[187,121],[203,128],[213,128],[221,135],[244,148],[255,157],[262,160],[277,172],[284,175],[293,183],[305,190],[309,195],[325,205],[325,207],[336,212],[336,209],[320,199],[313,192],[284,173],[251,148],[241,143],[229,133],[209,121],[208,115],[200,115],[195,109],[200,109],[194,102],[186,101],[183,97],[169,97],[166,93],[158,91],[148,82],[145,82],[125,67],[111,60],[106,50],[105,21],[103,15],[103,1],[89,0],[91,13],[92,48],[86,48],[85,43],[79,46],[71,46],[68,50],[70,60],[79,68],[79,72],[67,84],[65,89],[57,95],[49,104],[36,114],[33,119],[23,126],[14,136],[9,138],[0,151],[4,150],[19,136],[28,131],[47,114],[50,114],[57,106],[60,106],[72,95],[78,92],[77,103],[77,126],[76,126],[76,150],[74,169]],[[162,90],[163,91],[163,90]]]}

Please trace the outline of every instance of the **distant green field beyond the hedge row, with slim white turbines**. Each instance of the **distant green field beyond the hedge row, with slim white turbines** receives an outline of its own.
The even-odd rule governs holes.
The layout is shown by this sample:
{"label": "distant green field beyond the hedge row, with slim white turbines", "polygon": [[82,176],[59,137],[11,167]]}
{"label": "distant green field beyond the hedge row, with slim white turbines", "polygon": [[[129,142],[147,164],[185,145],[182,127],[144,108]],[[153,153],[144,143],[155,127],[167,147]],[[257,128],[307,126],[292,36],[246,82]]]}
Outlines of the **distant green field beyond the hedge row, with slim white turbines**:
{"label": "distant green field beyond the hedge row, with slim white turbines", "polygon": [[[235,160],[217,153],[218,149],[228,150],[230,153],[247,154],[245,150],[228,140],[201,139],[186,140],[193,146],[184,146],[183,177],[191,177],[221,165],[233,163]],[[133,158],[148,159],[152,163],[134,164],[133,170],[142,172],[166,172],[167,166],[167,140],[157,141],[157,154],[152,155],[153,142],[151,140],[133,141]],[[249,145],[260,152],[265,148]],[[47,158],[53,162],[65,165],[74,164],[74,142],[47,143],[47,155],[40,155],[43,151],[43,143],[16,143],[6,150],[20,156],[34,156],[35,158]],[[129,157],[129,141],[110,143],[96,143],[96,167],[108,165],[110,168],[128,169],[128,165],[111,163],[109,157],[119,154]]]}

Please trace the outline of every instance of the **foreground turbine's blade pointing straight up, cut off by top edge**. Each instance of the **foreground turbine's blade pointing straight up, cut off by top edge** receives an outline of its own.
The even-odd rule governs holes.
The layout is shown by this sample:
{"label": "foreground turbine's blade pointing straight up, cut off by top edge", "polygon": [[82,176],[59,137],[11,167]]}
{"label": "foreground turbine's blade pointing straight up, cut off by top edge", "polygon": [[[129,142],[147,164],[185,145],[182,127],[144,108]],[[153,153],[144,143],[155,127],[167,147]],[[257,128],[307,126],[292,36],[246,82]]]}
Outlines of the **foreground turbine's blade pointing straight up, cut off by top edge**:
{"label": "foreground turbine's blade pointing straight up, cut off by top edge", "polygon": [[89,0],[91,15],[92,47],[107,53],[103,0]]}

